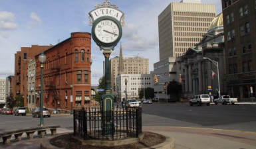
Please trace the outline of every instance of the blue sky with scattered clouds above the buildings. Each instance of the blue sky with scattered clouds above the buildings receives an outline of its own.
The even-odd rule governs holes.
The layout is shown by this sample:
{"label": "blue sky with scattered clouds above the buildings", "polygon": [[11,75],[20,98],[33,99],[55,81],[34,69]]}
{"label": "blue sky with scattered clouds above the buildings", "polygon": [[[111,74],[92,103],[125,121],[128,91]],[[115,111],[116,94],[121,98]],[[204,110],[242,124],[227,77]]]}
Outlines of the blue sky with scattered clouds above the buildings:
{"label": "blue sky with scattered clouds above the buildings", "polygon": [[[21,47],[58,44],[70,38],[71,32],[91,32],[88,13],[105,0],[0,0],[0,79],[14,75],[15,53]],[[150,71],[159,61],[158,15],[172,2],[181,0],[108,0],[124,13],[125,26],[122,54],[124,57],[140,56],[149,59]],[[221,13],[221,0],[201,0],[214,4]],[[110,58],[119,56],[120,42]],[[91,45],[93,60],[92,85],[103,75],[104,55]]]}

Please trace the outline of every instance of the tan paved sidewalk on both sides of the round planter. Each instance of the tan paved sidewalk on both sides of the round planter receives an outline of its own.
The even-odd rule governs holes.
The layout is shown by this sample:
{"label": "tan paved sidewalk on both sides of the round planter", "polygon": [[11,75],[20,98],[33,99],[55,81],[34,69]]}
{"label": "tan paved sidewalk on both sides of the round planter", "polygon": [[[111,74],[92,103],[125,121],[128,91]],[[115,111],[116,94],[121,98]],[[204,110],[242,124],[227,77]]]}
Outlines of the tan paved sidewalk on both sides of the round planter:
{"label": "tan paved sidewalk on both sides of the round planter", "polygon": [[[176,149],[205,149],[205,148],[220,148],[220,149],[233,149],[233,148],[256,148],[256,133],[255,132],[242,132],[236,130],[221,130],[210,128],[188,128],[188,127],[155,127],[144,126],[143,131],[155,132],[158,134],[172,136],[175,140]],[[66,128],[58,128],[57,134],[65,132],[72,132]],[[47,132],[46,137],[51,136]],[[33,138],[27,140],[23,138],[20,142],[11,141],[11,144],[0,144],[0,148],[13,149],[39,149],[41,148],[41,141],[43,138]]]}

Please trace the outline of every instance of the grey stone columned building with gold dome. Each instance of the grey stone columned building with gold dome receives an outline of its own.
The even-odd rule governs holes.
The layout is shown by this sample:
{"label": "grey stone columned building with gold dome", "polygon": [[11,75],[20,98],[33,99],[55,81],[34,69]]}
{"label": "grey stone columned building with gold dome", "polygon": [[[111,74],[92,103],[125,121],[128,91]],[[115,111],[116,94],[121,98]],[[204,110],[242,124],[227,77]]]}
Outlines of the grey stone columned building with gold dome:
{"label": "grey stone columned building with gold dome", "polygon": [[[219,75],[217,73],[217,66],[210,60],[203,58],[210,58],[218,62]],[[221,95],[226,94],[222,13],[211,21],[207,34],[203,34],[201,40],[194,47],[188,48],[183,56],[162,60],[154,64],[154,68],[156,75],[170,74],[167,81],[166,79],[164,81],[163,77],[158,77],[160,82],[155,83],[154,87],[156,97],[161,97],[162,92],[159,91],[161,85],[166,85],[166,82],[172,83],[172,80],[179,82],[180,78],[182,79],[182,99],[191,99],[194,95],[198,94],[210,94],[215,98],[218,97],[218,93],[221,93]],[[213,77],[211,71],[215,73]],[[219,76],[219,79],[217,76]],[[176,98],[172,97],[172,95],[166,96],[168,96],[168,99]],[[165,97],[165,95],[162,95],[162,97]]]}

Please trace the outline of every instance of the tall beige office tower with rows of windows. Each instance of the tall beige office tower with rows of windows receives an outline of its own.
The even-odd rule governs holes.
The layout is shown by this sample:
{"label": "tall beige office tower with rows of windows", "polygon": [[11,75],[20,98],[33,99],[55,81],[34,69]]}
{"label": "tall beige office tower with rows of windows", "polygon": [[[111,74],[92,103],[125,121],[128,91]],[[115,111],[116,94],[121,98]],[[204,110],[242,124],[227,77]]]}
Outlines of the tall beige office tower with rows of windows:
{"label": "tall beige office tower with rows of windows", "polygon": [[170,3],[158,16],[160,60],[182,56],[207,33],[215,17],[215,5],[200,0]]}

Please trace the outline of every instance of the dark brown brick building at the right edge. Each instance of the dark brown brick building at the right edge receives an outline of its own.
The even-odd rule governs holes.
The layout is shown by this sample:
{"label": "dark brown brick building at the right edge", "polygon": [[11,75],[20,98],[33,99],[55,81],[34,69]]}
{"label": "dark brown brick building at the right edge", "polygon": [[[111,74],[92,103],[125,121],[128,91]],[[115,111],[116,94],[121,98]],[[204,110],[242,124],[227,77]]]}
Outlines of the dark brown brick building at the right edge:
{"label": "dark brown brick building at the right edge", "polygon": [[252,101],[256,91],[256,1],[222,0],[227,91]]}

